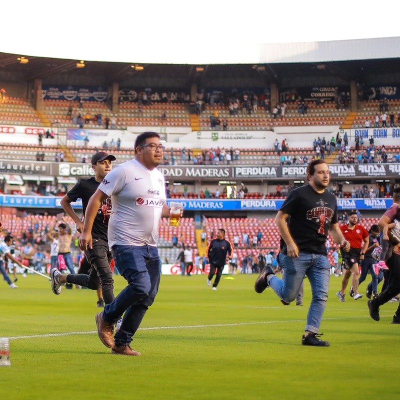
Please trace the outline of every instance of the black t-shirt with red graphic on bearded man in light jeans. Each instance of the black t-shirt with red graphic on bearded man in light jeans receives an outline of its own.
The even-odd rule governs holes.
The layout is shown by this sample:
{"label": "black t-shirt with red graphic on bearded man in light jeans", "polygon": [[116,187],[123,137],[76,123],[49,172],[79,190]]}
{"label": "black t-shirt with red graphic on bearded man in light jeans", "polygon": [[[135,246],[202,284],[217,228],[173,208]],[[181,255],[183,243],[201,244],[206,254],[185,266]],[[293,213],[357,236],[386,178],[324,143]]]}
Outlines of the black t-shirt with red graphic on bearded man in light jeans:
{"label": "black t-shirt with red graphic on bearded man in light jeans", "polygon": [[[300,251],[326,254],[325,241],[330,224],[337,223],[336,197],[317,193],[309,184],[292,190],[280,210],[290,215],[288,227]],[[287,254],[283,245],[282,253]]]}

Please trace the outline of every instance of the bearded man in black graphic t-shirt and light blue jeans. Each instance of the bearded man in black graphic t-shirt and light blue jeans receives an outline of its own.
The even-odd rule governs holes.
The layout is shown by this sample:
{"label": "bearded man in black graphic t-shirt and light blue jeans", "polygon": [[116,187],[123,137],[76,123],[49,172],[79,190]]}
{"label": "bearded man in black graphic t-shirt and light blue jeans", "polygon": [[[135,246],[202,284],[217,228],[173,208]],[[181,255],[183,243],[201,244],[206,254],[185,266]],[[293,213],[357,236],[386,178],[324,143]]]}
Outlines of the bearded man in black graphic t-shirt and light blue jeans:
{"label": "bearded man in black graphic t-shirt and light blue jeans", "polygon": [[328,346],[329,342],[320,340],[318,334],[329,288],[330,264],[325,247],[328,231],[345,251],[350,245],[337,224],[336,198],[325,191],[329,184],[329,168],[323,160],[308,164],[307,180],[307,185],[288,194],[275,218],[285,243],[279,256],[284,278],[275,276],[272,267],[266,266],[255,281],[254,289],[261,293],[270,286],[283,301],[290,302],[295,299],[306,275],[311,284],[312,300],[301,344]]}

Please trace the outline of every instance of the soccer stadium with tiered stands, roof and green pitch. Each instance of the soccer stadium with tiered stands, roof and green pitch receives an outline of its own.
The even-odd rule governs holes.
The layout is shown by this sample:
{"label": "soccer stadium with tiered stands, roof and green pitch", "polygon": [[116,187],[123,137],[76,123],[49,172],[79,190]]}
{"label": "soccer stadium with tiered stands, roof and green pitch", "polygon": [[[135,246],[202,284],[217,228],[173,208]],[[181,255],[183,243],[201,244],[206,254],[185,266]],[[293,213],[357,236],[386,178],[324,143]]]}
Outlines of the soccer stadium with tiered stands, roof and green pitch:
{"label": "soccer stadium with tiered stands, roof and green pitch", "polygon": [[[181,54],[95,59],[81,48],[77,58],[54,57],[49,49],[0,46],[0,234],[3,244],[12,236],[18,261],[1,250],[0,337],[10,361],[1,368],[0,359],[1,397],[398,398],[390,363],[400,350],[398,296],[371,319],[368,273],[363,296],[350,297],[350,279],[344,301],[334,237],[325,243],[329,292],[320,327],[329,347],[301,345],[308,279],[290,304],[271,287],[256,293],[254,282],[266,256],[281,276],[275,216],[307,184],[311,161],[327,164],[325,191],[335,196],[339,225],[356,211],[369,230],[392,206],[400,184],[399,44],[399,37],[292,39],[261,45],[257,57],[227,51],[225,62],[185,62]],[[51,243],[59,224],[70,228],[76,273],[81,230],[63,199],[95,176],[94,154],[113,155],[113,168],[122,167],[148,131],[164,147],[156,169],[166,205],[182,204],[183,214],[177,226],[160,218],[159,291],[132,342],[141,356],[120,357],[98,339],[104,303],[95,290],[66,283],[54,295]],[[70,206],[83,220],[81,199]],[[211,290],[207,251],[219,229],[234,262]],[[126,286],[122,275],[113,267],[115,296]],[[378,371],[381,364],[391,367]]]}

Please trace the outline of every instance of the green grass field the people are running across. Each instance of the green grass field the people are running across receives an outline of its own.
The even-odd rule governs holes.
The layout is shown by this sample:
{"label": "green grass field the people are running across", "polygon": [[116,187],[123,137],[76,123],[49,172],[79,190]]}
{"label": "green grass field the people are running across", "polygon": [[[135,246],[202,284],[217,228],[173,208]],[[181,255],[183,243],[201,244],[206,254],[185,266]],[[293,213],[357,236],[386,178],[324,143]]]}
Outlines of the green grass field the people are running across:
{"label": "green grass field the people are running across", "polygon": [[[396,303],[375,322],[365,296],[338,301],[340,278],[331,277],[320,329],[330,347],[301,346],[308,282],[304,306],[283,306],[269,288],[254,292],[255,277],[222,277],[212,291],[204,275],[162,276],[132,342],[140,357],[112,355],[100,342],[95,292],[56,296],[37,275],[20,277],[18,289],[1,281],[11,366],[0,367],[0,398],[398,399]],[[116,293],[124,282],[115,277]]]}

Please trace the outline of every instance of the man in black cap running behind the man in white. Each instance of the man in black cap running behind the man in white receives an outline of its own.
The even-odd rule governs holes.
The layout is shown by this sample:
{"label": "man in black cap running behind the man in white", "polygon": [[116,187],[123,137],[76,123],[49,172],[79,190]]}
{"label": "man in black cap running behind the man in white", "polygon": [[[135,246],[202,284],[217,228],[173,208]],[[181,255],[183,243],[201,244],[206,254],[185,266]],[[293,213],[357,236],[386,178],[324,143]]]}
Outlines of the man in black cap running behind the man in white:
{"label": "man in black cap running behind the man in white", "polygon": [[[61,199],[61,206],[65,212],[73,219],[76,224],[76,230],[82,231],[83,222],[71,206],[72,201],[78,198],[82,199],[83,216],[86,211],[87,203],[91,195],[96,191],[97,186],[105,179],[107,173],[112,169],[111,161],[115,157],[107,154],[105,151],[98,151],[91,157],[91,167],[94,176],[88,179],[80,179]],[[83,262],[91,268],[86,268],[87,273],[77,273],[62,275],[57,268],[53,268],[51,275],[51,289],[54,294],[61,292],[61,286],[65,283],[75,283],[86,286],[93,290],[102,289],[102,298],[99,296],[98,307],[110,303],[114,299],[114,281],[109,266],[111,252],[108,247],[108,219],[111,211],[111,199],[105,198],[98,208],[94,223],[91,229],[93,237],[93,246],[85,250],[85,257],[88,262]],[[80,270],[81,271],[81,270]],[[104,301],[103,301],[104,299]]]}

